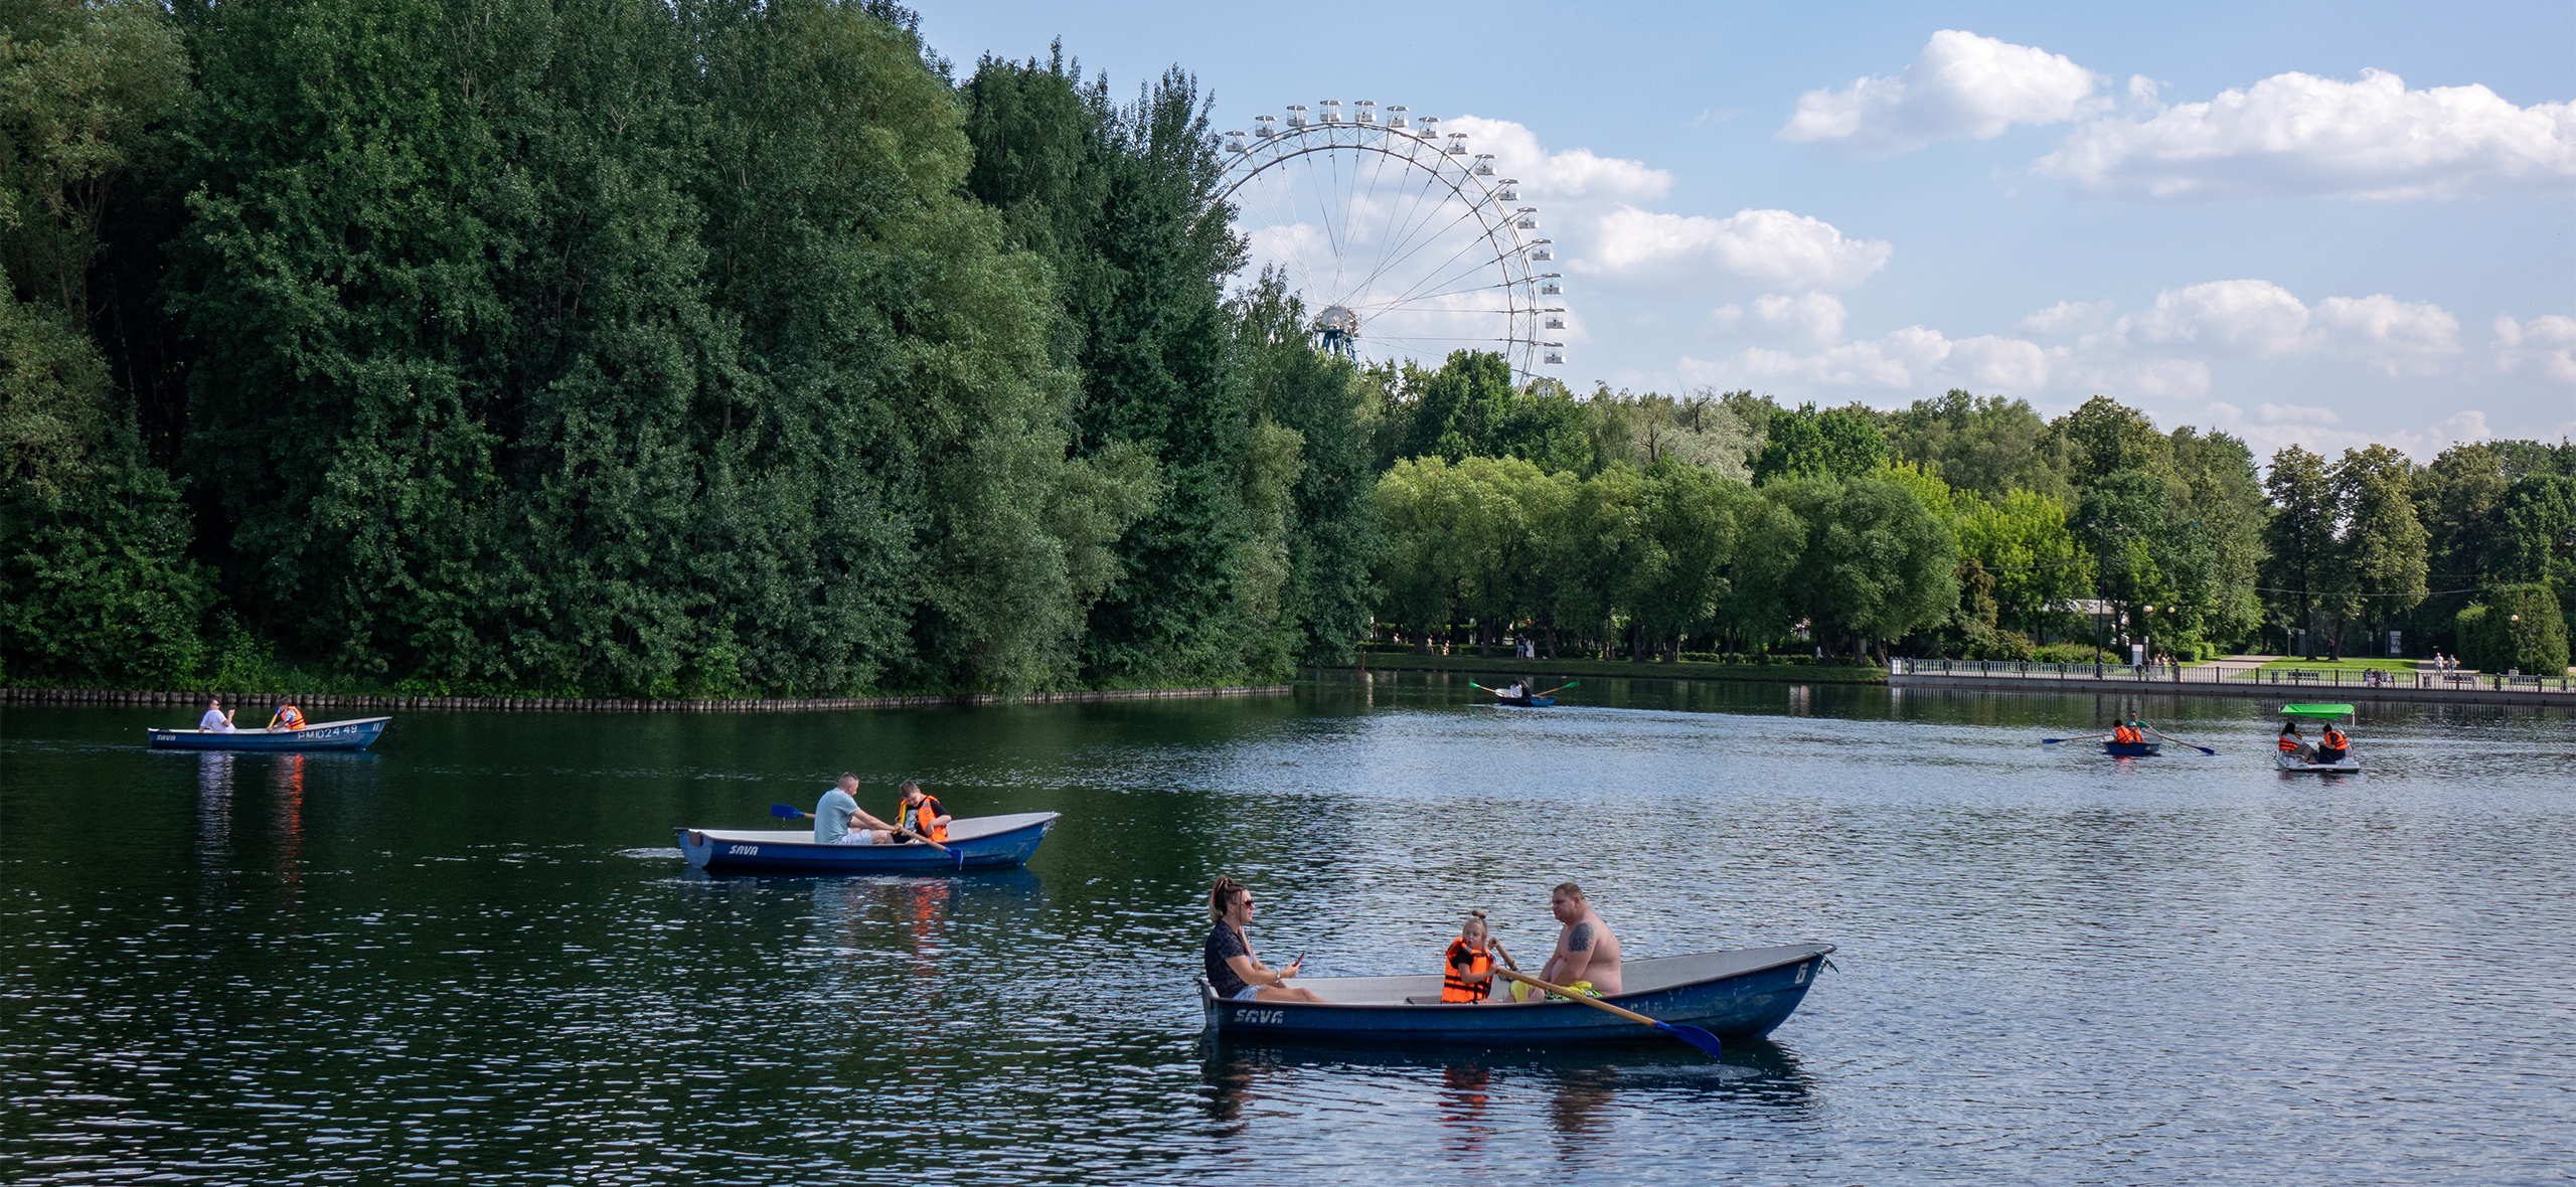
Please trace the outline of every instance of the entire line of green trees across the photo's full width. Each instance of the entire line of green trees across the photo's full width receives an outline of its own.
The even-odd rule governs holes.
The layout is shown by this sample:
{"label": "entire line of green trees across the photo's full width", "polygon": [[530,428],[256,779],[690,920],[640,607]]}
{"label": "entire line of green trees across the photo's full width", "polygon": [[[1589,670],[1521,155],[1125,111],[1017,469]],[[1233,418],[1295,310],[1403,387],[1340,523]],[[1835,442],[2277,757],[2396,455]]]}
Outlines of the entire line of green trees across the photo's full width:
{"label": "entire line of green trees across the photo's full width", "polygon": [[2089,636],[2079,597],[2169,651],[2398,628],[2535,669],[2519,623],[2576,587],[2566,443],[2264,476],[2110,399],[1345,363],[1244,276],[1206,113],[1180,70],[958,70],[884,0],[8,5],[0,680],[2020,657]]}

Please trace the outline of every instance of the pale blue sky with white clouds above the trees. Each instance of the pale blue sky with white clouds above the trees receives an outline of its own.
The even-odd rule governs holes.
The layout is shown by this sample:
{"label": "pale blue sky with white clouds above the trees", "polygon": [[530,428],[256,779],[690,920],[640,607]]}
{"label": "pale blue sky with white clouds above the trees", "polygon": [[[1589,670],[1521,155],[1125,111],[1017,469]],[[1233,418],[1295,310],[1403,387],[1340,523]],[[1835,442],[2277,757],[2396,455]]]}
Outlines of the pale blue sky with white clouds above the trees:
{"label": "pale blue sky with white clouds above the trees", "polygon": [[920,13],[961,75],[1182,67],[1216,129],[1443,116],[1543,209],[1577,391],[2105,394],[2259,458],[2576,435],[2576,3]]}

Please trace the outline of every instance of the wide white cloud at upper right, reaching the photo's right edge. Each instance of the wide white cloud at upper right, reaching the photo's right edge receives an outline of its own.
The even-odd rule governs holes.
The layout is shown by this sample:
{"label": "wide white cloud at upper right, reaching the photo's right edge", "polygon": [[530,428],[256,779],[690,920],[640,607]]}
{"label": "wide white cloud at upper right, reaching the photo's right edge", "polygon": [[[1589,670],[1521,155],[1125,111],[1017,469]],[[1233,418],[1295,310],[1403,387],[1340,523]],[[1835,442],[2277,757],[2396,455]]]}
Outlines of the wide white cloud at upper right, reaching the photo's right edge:
{"label": "wide white cloud at upper right, reaching the photo's right edge", "polygon": [[2151,201],[2576,193],[2576,103],[2290,72],[2141,121],[2097,118],[2035,170]]}

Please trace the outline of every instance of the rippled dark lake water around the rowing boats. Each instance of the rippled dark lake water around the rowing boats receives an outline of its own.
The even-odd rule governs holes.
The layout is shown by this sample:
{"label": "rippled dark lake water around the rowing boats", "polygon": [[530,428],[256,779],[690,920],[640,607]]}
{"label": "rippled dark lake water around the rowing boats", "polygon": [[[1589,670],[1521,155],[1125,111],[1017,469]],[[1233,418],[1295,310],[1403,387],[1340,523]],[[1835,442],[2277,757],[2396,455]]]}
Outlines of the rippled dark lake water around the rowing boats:
{"label": "rippled dark lake water around the rowing boats", "polygon": [[[1600,685],[1600,687],[1592,687]],[[374,754],[0,708],[0,1179],[2566,1182],[2576,729],[2365,706],[2285,778],[2040,736],[2123,708],[1587,682],[778,716],[407,713]],[[247,713],[245,713],[247,716]],[[1023,873],[683,873],[842,767],[1054,808]],[[1200,1038],[1206,883],[1314,973],[1842,945],[1770,1043]]]}

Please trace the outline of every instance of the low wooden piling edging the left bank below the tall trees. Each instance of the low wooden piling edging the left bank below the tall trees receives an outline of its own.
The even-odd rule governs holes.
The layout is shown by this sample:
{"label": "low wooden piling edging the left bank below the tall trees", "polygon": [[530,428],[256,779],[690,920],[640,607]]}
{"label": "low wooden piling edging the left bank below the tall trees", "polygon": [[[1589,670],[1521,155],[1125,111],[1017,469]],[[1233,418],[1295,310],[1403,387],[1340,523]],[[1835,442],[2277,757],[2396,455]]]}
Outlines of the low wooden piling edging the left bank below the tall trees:
{"label": "low wooden piling edging the left bank below the tall trees", "polygon": [[796,700],[654,700],[654,698],[415,698],[363,693],[124,693],[106,687],[0,687],[0,706],[131,706],[198,708],[206,698],[227,706],[268,706],[294,700],[307,718],[340,711],[505,711],[505,713],[819,713],[842,708],[951,708],[951,706],[1059,706],[1077,700],[1188,700],[1188,698],[1278,698],[1288,685],[1224,687],[1100,687],[1074,693],[927,693],[896,698],[796,698]]}

